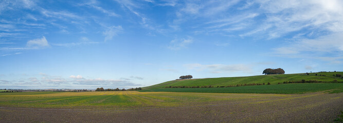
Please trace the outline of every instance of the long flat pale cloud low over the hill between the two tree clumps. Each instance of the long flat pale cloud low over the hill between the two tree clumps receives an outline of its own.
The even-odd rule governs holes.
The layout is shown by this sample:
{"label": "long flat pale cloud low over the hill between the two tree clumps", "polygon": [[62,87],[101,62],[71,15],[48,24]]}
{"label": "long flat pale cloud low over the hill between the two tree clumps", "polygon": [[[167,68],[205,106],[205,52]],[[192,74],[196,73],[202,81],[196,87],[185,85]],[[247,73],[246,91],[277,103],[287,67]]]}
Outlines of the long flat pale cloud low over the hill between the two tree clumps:
{"label": "long flat pale cloud low over the hill between the two tree clumps", "polygon": [[202,65],[202,64],[186,64],[184,65],[188,69],[194,69],[198,71],[210,71],[211,73],[223,73],[223,72],[251,72],[251,66],[244,64],[236,65],[223,65],[223,64],[212,64],[212,65]]}

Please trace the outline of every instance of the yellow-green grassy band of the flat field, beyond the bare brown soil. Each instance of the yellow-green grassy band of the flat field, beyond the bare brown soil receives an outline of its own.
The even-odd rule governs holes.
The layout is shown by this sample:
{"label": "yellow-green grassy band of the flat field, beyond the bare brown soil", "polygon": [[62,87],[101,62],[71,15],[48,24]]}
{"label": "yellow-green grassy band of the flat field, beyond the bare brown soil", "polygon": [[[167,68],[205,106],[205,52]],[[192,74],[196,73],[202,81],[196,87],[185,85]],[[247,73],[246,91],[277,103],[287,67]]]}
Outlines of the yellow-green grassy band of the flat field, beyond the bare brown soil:
{"label": "yellow-green grassy band of the flat field, beyond the bare brown soil", "polygon": [[287,95],[236,95],[173,92],[20,92],[0,93],[0,107],[121,109],[201,105],[228,100],[258,99]]}

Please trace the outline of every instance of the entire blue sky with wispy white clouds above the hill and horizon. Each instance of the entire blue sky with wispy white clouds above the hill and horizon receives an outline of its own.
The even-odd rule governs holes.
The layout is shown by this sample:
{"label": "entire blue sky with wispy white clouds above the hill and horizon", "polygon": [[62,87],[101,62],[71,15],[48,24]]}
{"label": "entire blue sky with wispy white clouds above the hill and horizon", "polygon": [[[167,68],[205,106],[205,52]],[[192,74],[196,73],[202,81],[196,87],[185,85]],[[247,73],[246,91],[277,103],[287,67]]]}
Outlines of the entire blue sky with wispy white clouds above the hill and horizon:
{"label": "entire blue sky with wispy white clouds above the hill and horizon", "polygon": [[343,2],[0,1],[0,89],[343,70]]}

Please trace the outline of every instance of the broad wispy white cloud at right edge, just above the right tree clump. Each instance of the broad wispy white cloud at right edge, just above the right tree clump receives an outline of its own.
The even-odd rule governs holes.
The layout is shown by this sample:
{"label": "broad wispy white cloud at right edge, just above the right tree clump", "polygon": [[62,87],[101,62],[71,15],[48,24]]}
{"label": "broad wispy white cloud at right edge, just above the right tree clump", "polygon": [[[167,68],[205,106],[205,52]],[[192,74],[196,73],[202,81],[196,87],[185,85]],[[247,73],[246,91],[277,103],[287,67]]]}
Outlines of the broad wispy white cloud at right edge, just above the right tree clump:
{"label": "broad wispy white cloud at right edge, just above the right tree clump", "polygon": [[343,42],[340,40],[343,38],[342,35],[342,33],[334,33],[314,39],[297,39],[295,42],[273,49],[274,55],[316,59],[341,64],[343,63]]}

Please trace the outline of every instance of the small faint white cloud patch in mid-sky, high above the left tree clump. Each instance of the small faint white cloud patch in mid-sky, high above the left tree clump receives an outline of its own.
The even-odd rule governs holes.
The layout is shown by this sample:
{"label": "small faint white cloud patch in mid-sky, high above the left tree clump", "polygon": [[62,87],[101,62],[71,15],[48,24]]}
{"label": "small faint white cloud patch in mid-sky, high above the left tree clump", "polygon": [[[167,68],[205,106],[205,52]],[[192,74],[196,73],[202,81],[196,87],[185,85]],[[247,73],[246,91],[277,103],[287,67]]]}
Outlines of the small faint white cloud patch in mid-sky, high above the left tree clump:
{"label": "small faint white cloud patch in mid-sky, high above the left tree clump", "polygon": [[187,48],[189,44],[193,43],[193,38],[188,36],[187,38],[182,38],[182,39],[173,39],[169,43],[168,48],[171,50],[179,50],[182,48]]}

